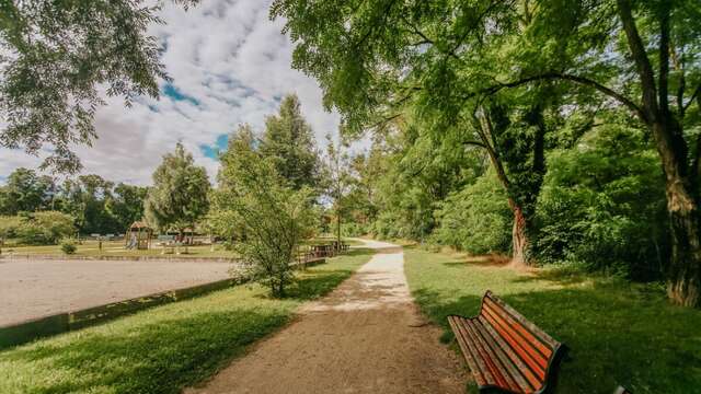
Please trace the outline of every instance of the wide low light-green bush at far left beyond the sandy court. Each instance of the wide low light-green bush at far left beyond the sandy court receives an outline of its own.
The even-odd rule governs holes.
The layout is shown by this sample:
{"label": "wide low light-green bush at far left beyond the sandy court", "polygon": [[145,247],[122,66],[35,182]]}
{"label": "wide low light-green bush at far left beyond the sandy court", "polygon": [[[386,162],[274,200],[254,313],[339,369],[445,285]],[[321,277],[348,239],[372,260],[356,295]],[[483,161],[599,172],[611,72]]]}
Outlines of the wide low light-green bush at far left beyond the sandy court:
{"label": "wide low light-green bush at far left beyond the sandy court", "polygon": [[14,235],[19,243],[27,245],[56,244],[76,233],[73,218],[57,211],[28,213],[19,217]]}

